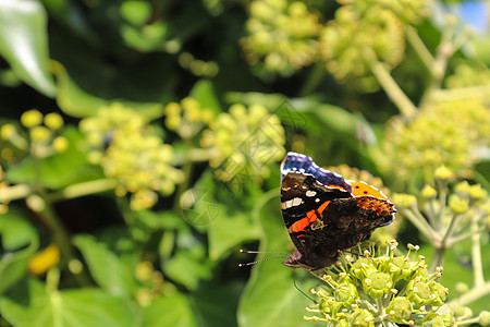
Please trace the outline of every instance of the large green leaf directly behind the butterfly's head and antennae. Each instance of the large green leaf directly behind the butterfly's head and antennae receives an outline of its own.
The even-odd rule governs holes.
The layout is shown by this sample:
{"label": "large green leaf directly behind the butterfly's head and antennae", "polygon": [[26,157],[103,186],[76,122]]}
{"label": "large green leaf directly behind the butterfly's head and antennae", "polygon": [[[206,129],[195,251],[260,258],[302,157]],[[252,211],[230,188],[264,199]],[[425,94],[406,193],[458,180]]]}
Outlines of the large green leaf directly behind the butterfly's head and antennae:
{"label": "large green leaf directly behind the butterfly's head and antennae", "polygon": [[[278,195],[269,202],[270,207],[266,206],[260,210],[264,229],[260,251],[284,252],[287,244],[291,244],[279,210],[279,202]],[[257,257],[262,258],[264,254]],[[314,286],[315,282],[309,280],[307,284]],[[238,326],[310,326],[311,323],[303,319],[307,304],[313,303],[293,286],[293,269],[274,261],[256,264],[240,300]]]}

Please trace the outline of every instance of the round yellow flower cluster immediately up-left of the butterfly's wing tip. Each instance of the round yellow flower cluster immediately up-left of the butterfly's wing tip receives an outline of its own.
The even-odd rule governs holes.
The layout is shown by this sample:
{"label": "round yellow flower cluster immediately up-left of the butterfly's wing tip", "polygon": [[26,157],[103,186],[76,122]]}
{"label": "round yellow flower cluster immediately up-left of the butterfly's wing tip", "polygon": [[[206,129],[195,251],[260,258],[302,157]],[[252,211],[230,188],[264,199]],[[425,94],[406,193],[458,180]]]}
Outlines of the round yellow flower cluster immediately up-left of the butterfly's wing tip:
{"label": "round yellow flower cluster immediately up-left of the butterfly's wing tip", "polygon": [[235,174],[254,179],[269,175],[268,164],[285,154],[284,129],[279,117],[259,105],[233,105],[203,132],[201,146],[213,148],[209,164],[218,179],[229,182]]}

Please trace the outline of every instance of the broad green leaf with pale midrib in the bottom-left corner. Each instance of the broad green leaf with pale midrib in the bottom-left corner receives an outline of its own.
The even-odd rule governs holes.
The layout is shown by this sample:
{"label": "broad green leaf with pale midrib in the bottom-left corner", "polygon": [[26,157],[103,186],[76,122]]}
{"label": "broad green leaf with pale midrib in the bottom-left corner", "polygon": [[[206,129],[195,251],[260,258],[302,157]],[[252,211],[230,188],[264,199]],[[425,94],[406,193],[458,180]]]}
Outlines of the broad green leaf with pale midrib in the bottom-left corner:
{"label": "broad green leaf with pale midrib in the bottom-left corner", "polygon": [[130,301],[100,289],[48,291],[28,279],[0,299],[2,316],[16,327],[140,326],[140,312]]}

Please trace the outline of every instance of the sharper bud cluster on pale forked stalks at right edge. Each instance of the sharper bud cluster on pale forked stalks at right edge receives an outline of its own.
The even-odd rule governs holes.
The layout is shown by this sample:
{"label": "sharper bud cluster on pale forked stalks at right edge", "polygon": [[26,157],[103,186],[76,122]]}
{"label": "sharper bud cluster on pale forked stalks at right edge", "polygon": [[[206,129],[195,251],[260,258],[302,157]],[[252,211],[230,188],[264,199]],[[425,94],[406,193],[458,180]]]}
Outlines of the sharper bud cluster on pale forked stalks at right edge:
{"label": "sharper bud cluster on pale forked stalks at right edge", "polygon": [[[458,182],[449,192],[452,179],[451,170],[440,167],[436,170],[437,183],[425,185],[419,198],[408,194],[393,196],[400,215],[414,223],[436,247],[434,265],[442,263],[445,251],[455,243],[475,237],[479,239],[480,233],[489,230],[488,192],[480,184],[470,185],[467,181]],[[479,247],[479,241],[474,241]],[[474,257],[474,272],[482,279],[482,268],[478,263],[481,263],[481,257]]]}

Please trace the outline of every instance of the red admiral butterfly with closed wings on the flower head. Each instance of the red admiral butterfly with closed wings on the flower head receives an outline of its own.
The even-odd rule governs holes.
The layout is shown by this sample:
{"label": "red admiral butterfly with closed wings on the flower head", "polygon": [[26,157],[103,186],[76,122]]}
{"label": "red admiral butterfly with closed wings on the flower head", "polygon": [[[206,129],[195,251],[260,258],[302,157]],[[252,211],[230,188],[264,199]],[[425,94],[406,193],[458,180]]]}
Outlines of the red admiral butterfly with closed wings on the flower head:
{"label": "red admiral butterfly with closed wings on the flower head", "polygon": [[339,251],[369,239],[396,211],[375,186],[347,181],[295,153],[281,165],[281,209],[297,249],[282,264],[311,271],[333,265]]}

